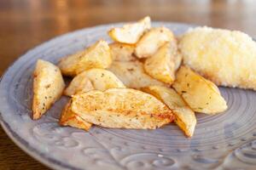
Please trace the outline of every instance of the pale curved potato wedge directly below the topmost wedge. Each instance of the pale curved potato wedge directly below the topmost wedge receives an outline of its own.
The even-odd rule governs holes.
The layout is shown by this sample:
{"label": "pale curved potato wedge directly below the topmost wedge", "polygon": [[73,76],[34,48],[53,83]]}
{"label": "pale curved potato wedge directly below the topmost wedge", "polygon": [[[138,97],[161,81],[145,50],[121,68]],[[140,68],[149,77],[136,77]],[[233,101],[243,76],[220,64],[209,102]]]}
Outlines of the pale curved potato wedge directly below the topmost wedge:
{"label": "pale curved potato wedge directly below the topmost wedge", "polygon": [[166,42],[176,43],[172,31],[166,27],[152,28],[137,42],[135,54],[138,58],[148,58],[155,54],[158,48]]}

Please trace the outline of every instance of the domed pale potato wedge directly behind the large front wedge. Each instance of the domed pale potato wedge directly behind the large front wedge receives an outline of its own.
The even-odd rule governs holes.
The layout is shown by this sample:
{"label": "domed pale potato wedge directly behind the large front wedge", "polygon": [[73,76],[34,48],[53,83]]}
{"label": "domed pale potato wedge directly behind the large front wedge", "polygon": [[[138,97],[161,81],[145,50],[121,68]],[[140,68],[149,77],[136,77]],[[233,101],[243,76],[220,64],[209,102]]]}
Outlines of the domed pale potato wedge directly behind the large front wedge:
{"label": "domed pale potato wedge directly behind the large front wedge", "polygon": [[73,94],[83,93],[92,89],[107,90],[108,88],[125,88],[123,82],[111,71],[104,69],[90,69],[81,72],[73,78],[64,94],[72,96]]}

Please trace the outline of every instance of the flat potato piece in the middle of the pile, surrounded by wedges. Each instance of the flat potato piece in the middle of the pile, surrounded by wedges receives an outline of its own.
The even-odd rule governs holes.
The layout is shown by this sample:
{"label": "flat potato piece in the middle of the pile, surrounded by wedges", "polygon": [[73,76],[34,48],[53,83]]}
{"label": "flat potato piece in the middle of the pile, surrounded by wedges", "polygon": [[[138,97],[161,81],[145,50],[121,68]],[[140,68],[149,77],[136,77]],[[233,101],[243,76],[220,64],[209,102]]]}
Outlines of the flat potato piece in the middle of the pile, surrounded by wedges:
{"label": "flat potato piece in the middle of the pile, surrounded by wedges", "polygon": [[108,68],[119,80],[121,80],[128,88],[143,88],[150,85],[167,86],[164,82],[149,77],[143,70],[143,64],[139,61],[113,61]]}

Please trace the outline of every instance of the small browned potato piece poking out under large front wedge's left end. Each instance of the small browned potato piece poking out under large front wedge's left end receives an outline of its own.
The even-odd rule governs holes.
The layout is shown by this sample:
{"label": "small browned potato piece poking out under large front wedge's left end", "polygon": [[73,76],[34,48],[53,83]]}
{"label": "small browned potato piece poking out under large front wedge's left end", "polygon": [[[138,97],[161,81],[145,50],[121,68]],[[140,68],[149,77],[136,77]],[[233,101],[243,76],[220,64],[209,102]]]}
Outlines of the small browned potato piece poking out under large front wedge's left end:
{"label": "small browned potato piece poking out under large front wedge's left end", "polygon": [[69,101],[67,105],[64,107],[64,110],[61,113],[61,118],[59,121],[60,125],[77,127],[84,129],[85,131],[89,131],[92,124],[90,122],[84,121],[84,119],[82,119],[80,116],[71,111],[70,105],[71,101]]}

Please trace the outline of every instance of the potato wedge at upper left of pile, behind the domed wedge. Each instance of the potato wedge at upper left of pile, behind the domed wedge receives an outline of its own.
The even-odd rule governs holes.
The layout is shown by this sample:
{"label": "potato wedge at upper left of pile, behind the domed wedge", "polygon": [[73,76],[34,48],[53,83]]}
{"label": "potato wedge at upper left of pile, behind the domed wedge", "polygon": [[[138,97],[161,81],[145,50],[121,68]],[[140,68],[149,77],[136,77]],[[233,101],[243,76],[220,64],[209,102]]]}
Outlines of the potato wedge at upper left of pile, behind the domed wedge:
{"label": "potato wedge at upper left of pile, behind the domed wedge", "polygon": [[61,59],[58,66],[63,75],[73,77],[91,68],[108,68],[111,62],[112,58],[108,42],[100,40],[84,51]]}

